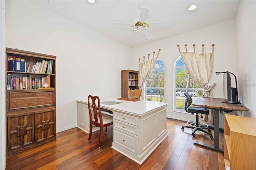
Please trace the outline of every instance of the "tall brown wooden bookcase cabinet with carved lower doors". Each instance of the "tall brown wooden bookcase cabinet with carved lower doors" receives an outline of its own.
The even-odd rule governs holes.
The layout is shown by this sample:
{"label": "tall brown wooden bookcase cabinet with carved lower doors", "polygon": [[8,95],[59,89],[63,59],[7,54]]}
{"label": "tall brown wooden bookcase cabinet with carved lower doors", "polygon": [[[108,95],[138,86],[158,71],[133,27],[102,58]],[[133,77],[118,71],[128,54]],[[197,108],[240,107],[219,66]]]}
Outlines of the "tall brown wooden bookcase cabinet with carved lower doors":
{"label": "tall brown wooden bookcase cabinet with carved lower doors", "polygon": [[[20,62],[15,65],[17,68],[48,61],[45,69],[49,67],[49,70],[9,71],[10,56],[23,59],[23,63],[15,61]],[[26,79],[18,83],[23,77]],[[42,79],[50,87],[44,88]],[[35,80],[34,87],[32,80]],[[6,156],[56,140],[56,56],[6,48],[6,126]]]}

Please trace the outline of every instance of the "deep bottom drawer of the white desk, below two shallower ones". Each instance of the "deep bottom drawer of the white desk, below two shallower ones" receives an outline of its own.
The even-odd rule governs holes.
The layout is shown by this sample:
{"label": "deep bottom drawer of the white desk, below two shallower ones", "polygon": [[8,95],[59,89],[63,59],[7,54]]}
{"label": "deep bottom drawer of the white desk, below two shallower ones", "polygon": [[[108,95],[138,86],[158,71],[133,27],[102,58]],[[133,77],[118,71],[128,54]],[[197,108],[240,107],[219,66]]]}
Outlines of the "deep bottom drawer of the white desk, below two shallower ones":
{"label": "deep bottom drawer of the white desk, below two shallower ones", "polygon": [[114,127],[114,142],[123,148],[138,154],[138,136]]}

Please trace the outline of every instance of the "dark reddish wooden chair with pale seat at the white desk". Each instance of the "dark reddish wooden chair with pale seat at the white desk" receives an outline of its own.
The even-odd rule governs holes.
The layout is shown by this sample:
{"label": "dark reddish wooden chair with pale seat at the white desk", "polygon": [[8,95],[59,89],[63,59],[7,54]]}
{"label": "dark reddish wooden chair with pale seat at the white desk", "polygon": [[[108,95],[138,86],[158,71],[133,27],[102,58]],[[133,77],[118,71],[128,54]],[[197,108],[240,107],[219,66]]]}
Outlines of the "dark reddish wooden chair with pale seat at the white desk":
{"label": "dark reddish wooden chair with pale seat at the white desk", "polygon": [[[92,104],[90,103],[90,99],[92,100]],[[96,106],[96,100],[98,100],[98,107]],[[102,115],[100,110],[100,98],[98,96],[88,96],[88,109],[90,115],[90,134],[88,140],[91,140],[92,137],[92,125],[100,127],[100,140],[98,144],[98,147],[100,148],[102,142],[103,128],[106,127],[105,132],[107,133],[107,126],[113,125],[113,117],[105,114]]]}

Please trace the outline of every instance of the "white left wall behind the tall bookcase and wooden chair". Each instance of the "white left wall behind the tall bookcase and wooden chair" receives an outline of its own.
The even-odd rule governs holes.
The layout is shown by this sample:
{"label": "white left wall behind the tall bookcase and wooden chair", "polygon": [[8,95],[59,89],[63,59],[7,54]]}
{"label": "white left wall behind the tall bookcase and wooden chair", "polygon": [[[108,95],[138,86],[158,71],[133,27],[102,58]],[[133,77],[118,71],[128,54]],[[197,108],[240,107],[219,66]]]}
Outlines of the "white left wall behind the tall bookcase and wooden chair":
{"label": "white left wall behind the tall bookcase and wooden chair", "polygon": [[77,99],[120,96],[131,48],[30,1],[6,1],[6,47],[56,55],[56,130],[77,126]]}

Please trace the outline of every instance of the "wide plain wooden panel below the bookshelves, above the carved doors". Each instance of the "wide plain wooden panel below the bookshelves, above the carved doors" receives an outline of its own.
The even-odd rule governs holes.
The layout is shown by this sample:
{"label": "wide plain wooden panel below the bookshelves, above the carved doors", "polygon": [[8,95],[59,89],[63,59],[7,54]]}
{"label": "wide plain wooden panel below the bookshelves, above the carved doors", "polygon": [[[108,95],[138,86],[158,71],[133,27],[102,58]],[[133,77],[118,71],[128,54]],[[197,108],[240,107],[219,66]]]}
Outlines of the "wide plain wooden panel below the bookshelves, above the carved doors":
{"label": "wide plain wooden panel below the bookshelves, above the carved doors", "polygon": [[8,92],[8,110],[55,105],[55,91]]}

